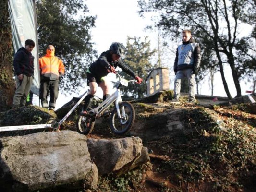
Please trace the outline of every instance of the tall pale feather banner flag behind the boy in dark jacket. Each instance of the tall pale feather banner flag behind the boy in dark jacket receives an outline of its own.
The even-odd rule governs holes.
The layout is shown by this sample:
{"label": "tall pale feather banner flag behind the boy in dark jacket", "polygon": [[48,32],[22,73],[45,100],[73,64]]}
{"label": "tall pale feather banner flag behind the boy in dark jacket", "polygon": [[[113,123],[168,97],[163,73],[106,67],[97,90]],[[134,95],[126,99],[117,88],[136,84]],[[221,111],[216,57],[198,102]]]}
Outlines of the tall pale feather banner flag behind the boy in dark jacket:
{"label": "tall pale feather banner flag behind the boy in dark jacket", "polygon": [[32,51],[34,60],[34,81],[31,91],[39,96],[40,74],[38,66],[37,14],[35,0],[8,0],[8,7],[12,26],[12,43],[14,53],[25,47],[25,41],[32,39],[36,46]]}

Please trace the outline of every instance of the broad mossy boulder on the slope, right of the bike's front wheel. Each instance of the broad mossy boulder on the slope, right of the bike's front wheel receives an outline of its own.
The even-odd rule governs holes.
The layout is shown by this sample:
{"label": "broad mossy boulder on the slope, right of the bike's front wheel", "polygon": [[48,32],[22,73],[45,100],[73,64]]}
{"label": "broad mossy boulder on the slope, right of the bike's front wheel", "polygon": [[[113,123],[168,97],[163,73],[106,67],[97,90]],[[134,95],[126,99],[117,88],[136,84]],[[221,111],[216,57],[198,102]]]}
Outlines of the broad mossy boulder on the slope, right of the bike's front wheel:
{"label": "broad mossy boulder on the slope, right of the bike's front wheel", "polygon": [[[142,109],[140,111],[143,112],[140,112],[136,108],[136,112],[139,113],[137,113],[134,126],[130,130],[131,135],[146,140],[155,140],[180,132],[185,134],[199,132],[200,134],[202,129],[205,129],[206,132],[211,132],[215,128],[225,131],[224,123],[217,113],[207,108],[174,107],[167,108],[162,112],[159,112],[161,108],[152,108],[155,108],[150,109],[154,112],[148,113]],[[188,122],[189,120],[190,122]]]}

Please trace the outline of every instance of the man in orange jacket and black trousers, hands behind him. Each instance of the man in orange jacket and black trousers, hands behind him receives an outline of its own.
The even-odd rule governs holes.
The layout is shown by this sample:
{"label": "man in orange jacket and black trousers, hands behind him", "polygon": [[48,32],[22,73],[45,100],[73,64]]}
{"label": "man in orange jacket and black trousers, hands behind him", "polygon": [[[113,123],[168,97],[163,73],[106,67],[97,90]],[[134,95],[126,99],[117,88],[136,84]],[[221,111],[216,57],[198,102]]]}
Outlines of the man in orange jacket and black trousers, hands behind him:
{"label": "man in orange jacket and black trousers, hands behind him", "polygon": [[55,48],[49,45],[46,55],[39,58],[40,99],[43,108],[48,108],[47,96],[50,91],[49,110],[54,110],[59,95],[59,78],[64,75],[65,67],[59,57],[54,56]]}

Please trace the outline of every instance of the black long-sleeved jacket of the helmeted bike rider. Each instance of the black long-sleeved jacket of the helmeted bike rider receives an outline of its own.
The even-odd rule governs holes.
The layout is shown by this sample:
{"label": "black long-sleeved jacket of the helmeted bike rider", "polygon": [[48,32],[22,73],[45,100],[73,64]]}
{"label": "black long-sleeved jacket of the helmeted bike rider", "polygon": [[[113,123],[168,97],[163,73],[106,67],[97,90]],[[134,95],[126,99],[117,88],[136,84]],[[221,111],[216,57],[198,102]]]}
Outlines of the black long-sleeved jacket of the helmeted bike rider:
{"label": "black long-sleeved jacket of the helmeted bike rider", "polygon": [[[114,62],[112,60],[112,55],[110,51],[105,51],[101,53],[99,56],[98,60],[93,62],[90,67],[89,67],[89,72],[92,73],[96,78],[101,78],[104,76],[107,76],[109,65],[113,66],[114,68],[120,67],[122,71],[127,73],[128,75],[135,77],[136,74],[129,68],[127,67],[119,58],[118,61]],[[88,71],[87,71],[88,72]]]}

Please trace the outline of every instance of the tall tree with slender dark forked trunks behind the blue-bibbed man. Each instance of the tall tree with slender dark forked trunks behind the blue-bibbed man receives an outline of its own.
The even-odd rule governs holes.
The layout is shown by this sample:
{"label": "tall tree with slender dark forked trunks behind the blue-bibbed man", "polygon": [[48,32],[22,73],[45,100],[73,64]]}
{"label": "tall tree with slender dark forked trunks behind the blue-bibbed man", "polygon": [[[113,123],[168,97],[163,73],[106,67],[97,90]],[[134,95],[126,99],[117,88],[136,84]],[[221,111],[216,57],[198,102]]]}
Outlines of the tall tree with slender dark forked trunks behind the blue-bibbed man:
{"label": "tall tree with slender dark forked trunks behind the blue-bibbed man", "polygon": [[[238,26],[248,10],[255,14],[252,0],[139,0],[138,3],[141,14],[160,11],[160,20],[156,21],[156,25],[172,38],[179,36],[184,28],[192,29],[193,35],[202,44],[201,48],[215,53],[227,96],[232,98],[223,63],[229,64],[237,96],[241,96],[239,79],[244,70],[241,67],[243,63],[236,56],[236,49],[238,45],[244,46],[237,38]],[[248,51],[246,57],[254,58]]]}

